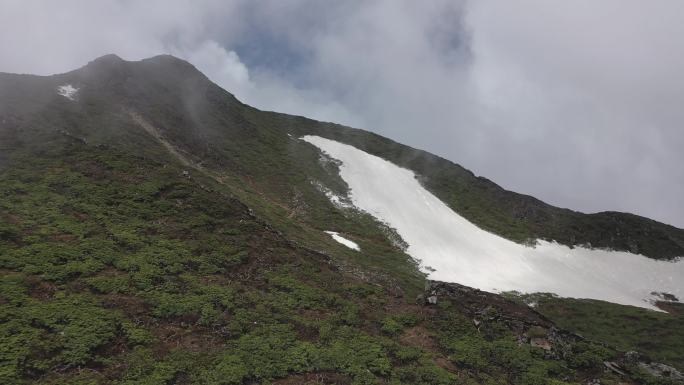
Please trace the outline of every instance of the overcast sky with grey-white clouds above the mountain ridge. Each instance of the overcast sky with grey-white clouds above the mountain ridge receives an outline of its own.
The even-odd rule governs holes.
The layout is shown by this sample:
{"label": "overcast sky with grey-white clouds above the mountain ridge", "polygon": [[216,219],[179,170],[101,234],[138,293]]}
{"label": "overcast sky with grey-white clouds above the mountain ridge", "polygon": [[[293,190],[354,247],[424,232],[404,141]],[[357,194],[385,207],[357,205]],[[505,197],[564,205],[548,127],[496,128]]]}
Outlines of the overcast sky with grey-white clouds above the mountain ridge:
{"label": "overcast sky with grey-white clouds above the mountain ridge", "polygon": [[684,1],[0,2],[0,71],[171,53],[253,106],[684,227]]}

